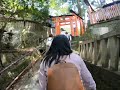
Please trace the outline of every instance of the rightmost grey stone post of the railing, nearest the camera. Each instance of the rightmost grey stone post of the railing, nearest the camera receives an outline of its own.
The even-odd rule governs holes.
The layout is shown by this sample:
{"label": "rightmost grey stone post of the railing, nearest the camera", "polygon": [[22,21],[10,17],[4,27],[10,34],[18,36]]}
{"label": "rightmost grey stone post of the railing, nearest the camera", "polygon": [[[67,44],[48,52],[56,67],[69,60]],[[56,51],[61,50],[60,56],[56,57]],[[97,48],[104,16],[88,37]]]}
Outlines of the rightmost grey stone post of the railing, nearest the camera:
{"label": "rightmost grey stone post of the railing, nearest the camera", "polygon": [[119,63],[119,39],[117,37],[110,37],[108,39],[108,50],[109,50],[109,69],[117,71]]}

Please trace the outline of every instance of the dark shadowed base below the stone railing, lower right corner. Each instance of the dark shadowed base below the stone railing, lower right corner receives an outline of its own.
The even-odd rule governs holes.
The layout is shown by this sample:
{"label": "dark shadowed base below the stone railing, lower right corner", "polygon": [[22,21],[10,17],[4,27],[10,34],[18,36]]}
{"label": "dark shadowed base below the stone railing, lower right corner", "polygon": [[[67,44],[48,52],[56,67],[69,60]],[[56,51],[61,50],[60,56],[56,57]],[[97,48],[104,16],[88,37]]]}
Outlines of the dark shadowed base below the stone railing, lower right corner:
{"label": "dark shadowed base below the stone railing, lower right corner", "polygon": [[117,74],[88,62],[86,65],[96,82],[97,90],[120,90],[120,73]]}

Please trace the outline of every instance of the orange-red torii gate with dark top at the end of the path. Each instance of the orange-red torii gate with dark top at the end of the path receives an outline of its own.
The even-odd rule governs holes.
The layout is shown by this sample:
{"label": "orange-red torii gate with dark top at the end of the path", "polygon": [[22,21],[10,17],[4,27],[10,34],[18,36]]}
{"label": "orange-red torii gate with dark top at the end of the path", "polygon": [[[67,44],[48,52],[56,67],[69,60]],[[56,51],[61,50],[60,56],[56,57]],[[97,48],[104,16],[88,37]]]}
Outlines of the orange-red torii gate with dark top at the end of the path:
{"label": "orange-red torii gate with dark top at the end of the path", "polygon": [[[74,13],[72,15],[53,16],[52,21],[55,23],[56,35],[61,33],[60,26],[64,25],[70,25],[72,36],[79,36],[78,24],[80,24],[80,35],[83,35],[85,32],[83,19]],[[75,25],[76,28],[74,28],[73,25]]]}

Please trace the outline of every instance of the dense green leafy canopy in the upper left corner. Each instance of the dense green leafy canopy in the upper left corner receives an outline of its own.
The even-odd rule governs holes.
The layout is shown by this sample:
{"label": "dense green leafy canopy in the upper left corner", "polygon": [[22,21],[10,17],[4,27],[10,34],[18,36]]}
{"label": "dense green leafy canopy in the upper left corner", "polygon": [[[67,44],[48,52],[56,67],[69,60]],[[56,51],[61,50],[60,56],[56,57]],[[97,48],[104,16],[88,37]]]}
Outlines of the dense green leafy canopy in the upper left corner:
{"label": "dense green leafy canopy in the upper left corner", "polygon": [[45,0],[3,0],[0,14],[8,17],[41,21],[48,17]]}

